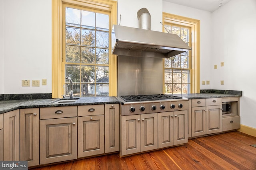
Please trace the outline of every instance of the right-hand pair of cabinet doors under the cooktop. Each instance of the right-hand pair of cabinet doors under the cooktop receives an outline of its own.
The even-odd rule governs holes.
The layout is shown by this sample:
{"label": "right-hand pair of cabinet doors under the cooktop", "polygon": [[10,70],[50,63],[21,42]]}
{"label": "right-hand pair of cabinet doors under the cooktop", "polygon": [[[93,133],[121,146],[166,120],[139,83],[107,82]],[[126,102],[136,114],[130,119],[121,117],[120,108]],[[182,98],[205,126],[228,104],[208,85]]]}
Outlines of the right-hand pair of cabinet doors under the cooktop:
{"label": "right-hand pair of cabinet doors under the cooktop", "polygon": [[188,142],[188,111],[158,113],[158,148]]}

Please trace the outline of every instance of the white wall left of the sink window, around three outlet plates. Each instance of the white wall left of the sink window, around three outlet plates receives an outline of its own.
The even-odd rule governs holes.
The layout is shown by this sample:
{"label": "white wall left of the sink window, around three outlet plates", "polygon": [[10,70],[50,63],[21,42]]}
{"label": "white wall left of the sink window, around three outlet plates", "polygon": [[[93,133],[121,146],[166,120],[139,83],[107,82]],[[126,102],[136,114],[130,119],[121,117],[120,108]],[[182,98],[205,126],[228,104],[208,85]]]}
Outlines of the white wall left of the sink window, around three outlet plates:
{"label": "white wall left of the sink window, around three outlet plates", "polygon": [[[4,94],[52,92],[52,1],[1,0]],[[2,15],[3,14],[3,15]],[[1,34],[0,34],[1,36]],[[2,49],[3,48],[3,49]],[[1,57],[2,60],[2,57]],[[1,71],[2,72],[2,71]],[[47,79],[46,86],[22,87],[22,80]],[[0,87],[2,83],[0,83]],[[1,93],[1,89],[0,89]]]}

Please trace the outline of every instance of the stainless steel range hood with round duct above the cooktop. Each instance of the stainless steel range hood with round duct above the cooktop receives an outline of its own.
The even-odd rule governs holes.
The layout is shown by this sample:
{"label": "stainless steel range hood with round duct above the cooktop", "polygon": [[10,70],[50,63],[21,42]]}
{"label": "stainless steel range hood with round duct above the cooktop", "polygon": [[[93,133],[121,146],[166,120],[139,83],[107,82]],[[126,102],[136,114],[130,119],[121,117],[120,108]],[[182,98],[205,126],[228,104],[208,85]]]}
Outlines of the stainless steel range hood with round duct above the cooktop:
{"label": "stainless steel range hood with round duct above the cooktop", "polygon": [[140,9],[137,17],[140,28],[113,26],[116,43],[112,54],[169,58],[191,50],[176,34],[150,30],[150,14],[146,8]]}

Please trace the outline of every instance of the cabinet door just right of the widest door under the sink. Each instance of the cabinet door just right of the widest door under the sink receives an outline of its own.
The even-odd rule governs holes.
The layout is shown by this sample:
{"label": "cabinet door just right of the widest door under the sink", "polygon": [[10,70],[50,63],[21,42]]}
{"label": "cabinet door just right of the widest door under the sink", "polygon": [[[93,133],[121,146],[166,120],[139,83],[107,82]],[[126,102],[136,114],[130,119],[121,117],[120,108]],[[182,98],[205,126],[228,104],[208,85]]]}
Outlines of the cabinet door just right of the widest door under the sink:
{"label": "cabinet door just right of the widest door under the sink", "polygon": [[78,158],[104,153],[104,115],[78,117]]}

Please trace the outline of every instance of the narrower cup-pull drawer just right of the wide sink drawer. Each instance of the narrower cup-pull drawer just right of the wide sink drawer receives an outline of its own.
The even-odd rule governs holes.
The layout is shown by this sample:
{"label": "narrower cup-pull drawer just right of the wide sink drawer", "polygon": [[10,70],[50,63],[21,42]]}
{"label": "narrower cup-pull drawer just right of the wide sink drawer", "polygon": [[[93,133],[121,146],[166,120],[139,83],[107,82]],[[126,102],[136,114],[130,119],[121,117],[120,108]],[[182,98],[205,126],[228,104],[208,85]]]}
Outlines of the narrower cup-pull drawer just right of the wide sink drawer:
{"label": "narrower cup-pull drawer just right of the wide sink drawer", "polygon": [[78,106],[78,116],[104,115],[104,104]]}

